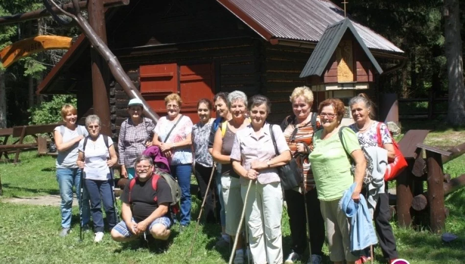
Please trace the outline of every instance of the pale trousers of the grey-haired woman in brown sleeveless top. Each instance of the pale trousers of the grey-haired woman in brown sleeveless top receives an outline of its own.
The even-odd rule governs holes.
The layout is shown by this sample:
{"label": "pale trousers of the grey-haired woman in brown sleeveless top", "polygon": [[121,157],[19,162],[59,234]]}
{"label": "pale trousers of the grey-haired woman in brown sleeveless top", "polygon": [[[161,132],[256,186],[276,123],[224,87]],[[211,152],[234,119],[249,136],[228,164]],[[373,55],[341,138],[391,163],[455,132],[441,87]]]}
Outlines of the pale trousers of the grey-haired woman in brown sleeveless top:
{"label": "pale trousers of the grey-haired woman in brown sleeveless top", "polygon": [[221,191],[223,193],[225,205],[225,231],[226,234],[235,236],[242,213],[242,207],[244,206],[239,179],[231,176],[221,176]]}

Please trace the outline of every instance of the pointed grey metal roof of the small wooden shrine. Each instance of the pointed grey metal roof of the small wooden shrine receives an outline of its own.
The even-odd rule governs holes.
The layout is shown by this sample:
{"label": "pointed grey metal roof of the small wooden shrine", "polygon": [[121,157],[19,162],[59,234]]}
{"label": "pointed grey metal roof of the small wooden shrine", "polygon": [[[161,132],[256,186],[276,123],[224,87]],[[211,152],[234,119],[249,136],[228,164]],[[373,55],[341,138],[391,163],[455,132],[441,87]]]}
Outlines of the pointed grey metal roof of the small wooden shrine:
{"label": "pointed grey metal roof of the small wooden shrine", "polygon": [[342,37],[348,29],[352,32],[353,36],[360,44],[363,51],[368,56],[378,73],[381,74],[383,72],[381,66],[379,66],[376,59],[374,59],[368,47],[363,43],[362,38],[355,30],[352,22],[346,18],[343,21],[330,25],[326,28],[320,42],[318,42],[317,46],[313,50],[310,59],[308,59],[305,67],[303,67],[302,73],[300,75],[301,78],[310,75],[321,76],[323,74],[326,66],[329,63],[329,60],[331,59],[334,51],[336,50],[338,44],[341,42]]}

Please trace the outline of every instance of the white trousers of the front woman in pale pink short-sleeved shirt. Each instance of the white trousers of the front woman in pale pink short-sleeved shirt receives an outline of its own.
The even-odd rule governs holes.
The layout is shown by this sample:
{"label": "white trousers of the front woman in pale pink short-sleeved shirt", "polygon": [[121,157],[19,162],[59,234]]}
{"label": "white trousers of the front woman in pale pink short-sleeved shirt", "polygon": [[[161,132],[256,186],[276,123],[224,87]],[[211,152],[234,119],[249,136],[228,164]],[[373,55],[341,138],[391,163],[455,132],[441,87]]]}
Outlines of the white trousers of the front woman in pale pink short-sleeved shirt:
{"label": "white trousers of the front woman in pale pink short-sleeved shirt", "polygon": [[245,220],[254,263],[282,263],[282,190],[279,182],[252,183],[245,201],[247,185],[242,185],[242,200],[246,202]]}

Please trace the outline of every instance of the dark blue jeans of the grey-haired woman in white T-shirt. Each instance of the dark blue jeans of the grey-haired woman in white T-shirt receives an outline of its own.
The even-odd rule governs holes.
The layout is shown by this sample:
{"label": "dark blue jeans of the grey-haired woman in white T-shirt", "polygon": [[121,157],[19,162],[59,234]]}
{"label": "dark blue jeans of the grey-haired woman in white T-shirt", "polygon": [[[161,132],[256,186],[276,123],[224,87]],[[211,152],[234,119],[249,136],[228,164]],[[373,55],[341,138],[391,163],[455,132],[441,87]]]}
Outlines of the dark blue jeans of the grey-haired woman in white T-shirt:
{"label": "dark blue jeans of the grey-haired woman in white T-shirt", "polygon": [[91,198],[91,213],[95,233],[103,232],[102,201],[110,230],[116,225],[116,213],[110,181],[84,179]]}

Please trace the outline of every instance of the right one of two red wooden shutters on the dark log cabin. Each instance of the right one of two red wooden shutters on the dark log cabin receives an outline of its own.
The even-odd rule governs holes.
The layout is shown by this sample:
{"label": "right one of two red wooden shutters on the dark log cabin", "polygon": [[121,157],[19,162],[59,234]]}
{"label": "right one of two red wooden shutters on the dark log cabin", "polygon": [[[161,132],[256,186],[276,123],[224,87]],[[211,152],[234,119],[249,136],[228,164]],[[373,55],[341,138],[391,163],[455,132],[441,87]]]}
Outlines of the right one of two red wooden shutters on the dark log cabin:
{"label": "right one of two red wooden shutters on the dark log cabin", "polygon": [[181,112],[195,124],[199,122],[197,102],[202,98],[210,101],[214,96],[213,64],[180,66],[180,94],[183,100]]}

